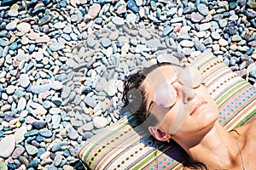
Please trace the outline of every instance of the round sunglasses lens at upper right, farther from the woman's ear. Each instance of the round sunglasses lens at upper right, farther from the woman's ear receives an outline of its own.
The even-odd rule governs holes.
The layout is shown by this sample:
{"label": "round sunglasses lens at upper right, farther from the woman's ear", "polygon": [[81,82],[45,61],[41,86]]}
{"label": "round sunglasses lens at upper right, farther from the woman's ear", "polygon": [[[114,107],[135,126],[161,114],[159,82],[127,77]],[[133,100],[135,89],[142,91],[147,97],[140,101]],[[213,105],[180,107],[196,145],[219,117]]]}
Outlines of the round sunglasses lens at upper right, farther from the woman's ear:
{"label": "round sunglasses lens at upper right, farther from the woman's ear", "polygon": [[179,81],[190,88],[199,87],[202,82],[201,72],[195,67],[186,68],[180,73]]}

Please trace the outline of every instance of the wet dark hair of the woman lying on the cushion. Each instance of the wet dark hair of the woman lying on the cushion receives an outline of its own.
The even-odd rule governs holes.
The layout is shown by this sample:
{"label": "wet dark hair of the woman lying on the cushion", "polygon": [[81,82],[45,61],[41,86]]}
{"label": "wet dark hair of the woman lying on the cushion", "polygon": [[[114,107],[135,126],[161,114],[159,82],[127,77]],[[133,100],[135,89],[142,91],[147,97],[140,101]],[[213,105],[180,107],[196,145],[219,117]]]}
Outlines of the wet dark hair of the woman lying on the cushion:
{"label": "wet dark hair of the woman lying on the cushion", "polygon": [[[123,92],[123,102],[125,109],[130,113],[134,114],[136,117],[137,125],[146,121],[149,116],[147,111],[147,92],[143,88],[142,84],[145,78],[151,71],[162,66],[162,65],[176,65],[172,63],[158,63],[151,65],[143,71],[137,71],[136,74],[132,74],[125,79],[124,82],[124,92]],[[181,65],[176,65],[181,66]],[[195,162],[188,155],[188,153],[183,150],[183,148],[178,145],[174,140],[171,140],[173,145],[177,146],[181,150],[181,157],[183,158],[183,166],[192,169],[207,169],[207,166],[201,162]]]}

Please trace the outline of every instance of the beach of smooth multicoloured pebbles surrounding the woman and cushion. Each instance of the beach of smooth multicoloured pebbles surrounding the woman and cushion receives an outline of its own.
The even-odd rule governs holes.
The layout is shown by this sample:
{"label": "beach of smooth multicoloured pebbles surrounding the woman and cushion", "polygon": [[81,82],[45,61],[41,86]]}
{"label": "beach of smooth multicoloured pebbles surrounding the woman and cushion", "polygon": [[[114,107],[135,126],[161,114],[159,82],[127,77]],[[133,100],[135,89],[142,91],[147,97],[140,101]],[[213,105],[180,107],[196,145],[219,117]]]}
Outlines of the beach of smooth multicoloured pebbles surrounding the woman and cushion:
{"label": "beach of smooth multicoloured pebbles surrounding the woman and cushion", "polygon": [[84,169],[80,144],[125,114],[125,77],[206,50],[255,86],[256,2],[2,0],[0,170]]}

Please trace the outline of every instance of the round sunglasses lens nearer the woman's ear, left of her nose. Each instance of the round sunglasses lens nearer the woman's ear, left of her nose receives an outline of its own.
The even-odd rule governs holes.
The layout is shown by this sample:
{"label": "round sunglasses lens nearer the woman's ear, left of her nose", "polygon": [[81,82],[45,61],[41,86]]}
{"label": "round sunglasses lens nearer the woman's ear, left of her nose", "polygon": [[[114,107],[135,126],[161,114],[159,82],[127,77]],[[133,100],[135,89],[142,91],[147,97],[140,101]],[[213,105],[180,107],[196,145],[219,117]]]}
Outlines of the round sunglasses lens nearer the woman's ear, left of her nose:
{"label": "round sunglasses lens nearer the woman's ear, left of her nose", "polygon": [[177,92],[172,85],[164,83],[155,90],[154,102],[162,107],[171,107],[175,104]]}

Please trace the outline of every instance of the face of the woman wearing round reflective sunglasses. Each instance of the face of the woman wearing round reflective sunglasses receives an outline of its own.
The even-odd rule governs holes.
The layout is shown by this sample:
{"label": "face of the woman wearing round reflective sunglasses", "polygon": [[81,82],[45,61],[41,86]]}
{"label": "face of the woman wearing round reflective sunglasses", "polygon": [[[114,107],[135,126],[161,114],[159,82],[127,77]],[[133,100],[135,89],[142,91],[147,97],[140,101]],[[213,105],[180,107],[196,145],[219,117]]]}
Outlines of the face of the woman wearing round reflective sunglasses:
{"label": "face of the woman wearing round reflective sunglasses", "polygon": [[166,133],[198,133],[218,119],[218,108],[193,69],[162,65],[148,74],[143,88],[148,111]]}

